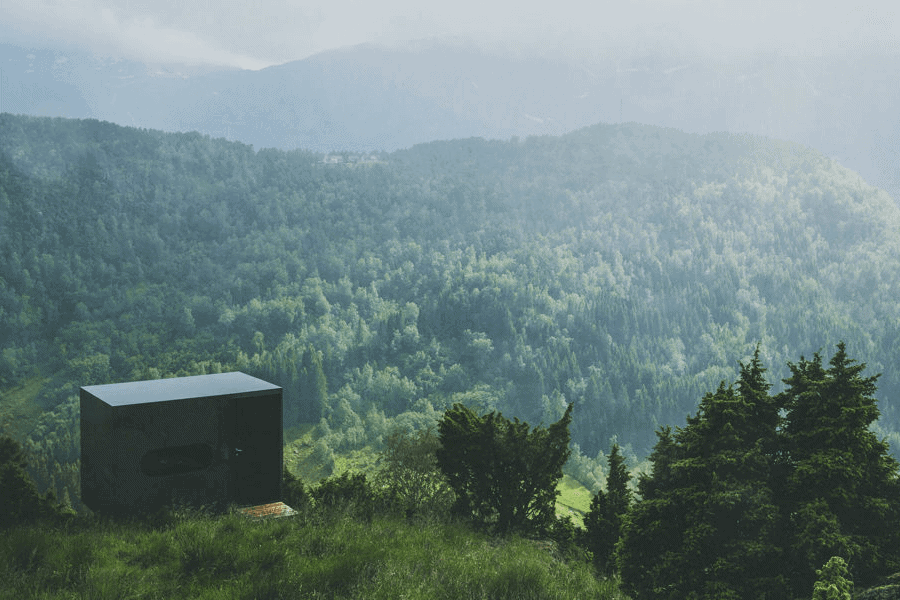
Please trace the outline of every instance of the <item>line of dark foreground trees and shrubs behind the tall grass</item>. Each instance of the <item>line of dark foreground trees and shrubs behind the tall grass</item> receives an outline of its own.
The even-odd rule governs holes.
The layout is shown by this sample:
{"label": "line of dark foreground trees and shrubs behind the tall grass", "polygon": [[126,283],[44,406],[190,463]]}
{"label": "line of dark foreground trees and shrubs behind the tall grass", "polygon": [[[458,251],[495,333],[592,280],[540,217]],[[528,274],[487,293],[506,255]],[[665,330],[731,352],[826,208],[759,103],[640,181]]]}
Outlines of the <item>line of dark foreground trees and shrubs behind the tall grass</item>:
{"label": "line of dark foreground trees and shrubs behind the tall grass", "polygon": [[[788,368],[784,391],[771,394],[757,349],[684,426],[658,430],[636,489],[613,445],[583,528],[554,509],[573,404],[537,427],[455,404],[436,432],[394,431],[378,473],[308,488],[285,470],[284,498],[298,510],[452,517],[493,535],[549,537],[635,600],[824,598],[874,585],[900,569],[900,465],[871,429],[878,375],[843,342],[827,366],[816,353]],[[0,524],[75,518],[37,495],[8,437],[0,459]]]}

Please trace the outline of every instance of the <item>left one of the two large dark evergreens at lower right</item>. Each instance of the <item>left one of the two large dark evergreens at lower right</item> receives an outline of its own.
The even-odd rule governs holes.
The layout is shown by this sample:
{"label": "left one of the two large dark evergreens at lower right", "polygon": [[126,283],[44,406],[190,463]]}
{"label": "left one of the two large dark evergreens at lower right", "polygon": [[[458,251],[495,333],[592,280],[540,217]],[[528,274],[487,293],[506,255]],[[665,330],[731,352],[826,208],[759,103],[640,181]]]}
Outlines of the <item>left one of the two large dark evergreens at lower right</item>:
{"label": "left one of the two large dark evergreens at lower right", "polygon": [[770,459],[755,437],[773,439],[774,430],[754,421],[771,402],[758,361],[742,372],[743,393],[722,383],[684,429],[660,435],[620,544],[623,584],[635,598],[782,593]]}

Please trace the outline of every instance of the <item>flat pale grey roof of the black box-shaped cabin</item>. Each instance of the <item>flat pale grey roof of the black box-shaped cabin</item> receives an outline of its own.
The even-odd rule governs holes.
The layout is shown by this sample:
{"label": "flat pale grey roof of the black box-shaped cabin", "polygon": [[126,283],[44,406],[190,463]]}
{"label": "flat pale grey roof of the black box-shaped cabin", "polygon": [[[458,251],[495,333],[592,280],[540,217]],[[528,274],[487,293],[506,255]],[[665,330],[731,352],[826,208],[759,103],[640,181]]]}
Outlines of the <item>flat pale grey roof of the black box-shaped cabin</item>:
{"label": "flat pale grey roof of the black box-shaped cabin", "polygon": [[246,373],[234,371],[213,375],[88,385],[81,389],[110,406],[125,406],[188,398],[261,396],[281,388]]}

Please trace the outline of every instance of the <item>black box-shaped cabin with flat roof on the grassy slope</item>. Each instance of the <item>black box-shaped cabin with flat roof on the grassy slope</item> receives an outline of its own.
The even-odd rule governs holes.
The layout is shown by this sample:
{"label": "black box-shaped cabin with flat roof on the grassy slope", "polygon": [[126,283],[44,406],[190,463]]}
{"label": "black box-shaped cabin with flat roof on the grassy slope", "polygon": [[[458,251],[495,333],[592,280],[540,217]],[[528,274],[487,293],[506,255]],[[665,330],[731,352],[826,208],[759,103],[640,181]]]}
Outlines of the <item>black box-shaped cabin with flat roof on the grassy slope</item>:
{"label": "black box-shaped cabin with flat roof on the grassy slope", "polygon": [[94,511],[281,500],[282,390],[244,373],[81,388],[81,499]]}

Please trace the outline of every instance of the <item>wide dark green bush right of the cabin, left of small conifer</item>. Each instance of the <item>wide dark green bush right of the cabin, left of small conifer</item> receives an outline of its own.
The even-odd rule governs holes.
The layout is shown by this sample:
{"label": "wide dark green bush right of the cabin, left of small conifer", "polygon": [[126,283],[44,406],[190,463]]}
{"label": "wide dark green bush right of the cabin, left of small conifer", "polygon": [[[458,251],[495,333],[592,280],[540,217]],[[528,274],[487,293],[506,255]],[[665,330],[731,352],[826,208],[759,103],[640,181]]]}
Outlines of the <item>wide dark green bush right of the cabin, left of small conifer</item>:
{"label": "wide dark green bush right of the cabin, left of small conifer", "polygon": [[454,511],[500,533],[542,532],[555,519],[556,485],[569,456],[572,405],[531,429],[454,404],[438,423],[437,463],[456,494]]}

